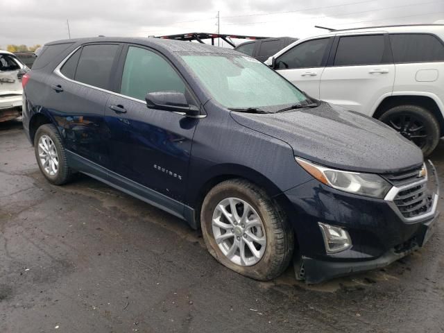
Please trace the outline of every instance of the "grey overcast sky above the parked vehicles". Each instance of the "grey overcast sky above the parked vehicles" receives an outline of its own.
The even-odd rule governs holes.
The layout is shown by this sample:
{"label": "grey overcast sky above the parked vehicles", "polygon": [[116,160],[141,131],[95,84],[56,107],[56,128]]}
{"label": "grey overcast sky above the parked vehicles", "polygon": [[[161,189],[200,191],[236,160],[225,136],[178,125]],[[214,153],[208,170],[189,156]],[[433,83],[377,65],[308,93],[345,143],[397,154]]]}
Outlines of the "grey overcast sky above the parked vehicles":
{"label": "grey overcast sky above the parked vehicles", "polygon": [[[68,37],[169,35],[217,31],[307,37],[314,25],[350,28],[444,23],[444,0],[0,0],[0,47]],[[442,21],[441,21],[442,20]],[[239,43],[238,41],[237,44]]]}

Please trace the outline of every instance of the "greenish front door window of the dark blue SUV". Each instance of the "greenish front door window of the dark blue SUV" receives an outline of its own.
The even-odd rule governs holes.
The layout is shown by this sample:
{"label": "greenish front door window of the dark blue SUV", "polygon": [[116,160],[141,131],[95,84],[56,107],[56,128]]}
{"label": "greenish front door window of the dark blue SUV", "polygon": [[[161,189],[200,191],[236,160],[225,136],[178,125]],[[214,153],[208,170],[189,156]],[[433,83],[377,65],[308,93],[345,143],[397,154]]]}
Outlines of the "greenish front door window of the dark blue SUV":
{"label": "greenish front door window of the dark blue SUV", "polygon": [[182,92],[185,83],[176,71],[157,53],[130,46],[123,67],[120,93],[145,100],[148,92]]}

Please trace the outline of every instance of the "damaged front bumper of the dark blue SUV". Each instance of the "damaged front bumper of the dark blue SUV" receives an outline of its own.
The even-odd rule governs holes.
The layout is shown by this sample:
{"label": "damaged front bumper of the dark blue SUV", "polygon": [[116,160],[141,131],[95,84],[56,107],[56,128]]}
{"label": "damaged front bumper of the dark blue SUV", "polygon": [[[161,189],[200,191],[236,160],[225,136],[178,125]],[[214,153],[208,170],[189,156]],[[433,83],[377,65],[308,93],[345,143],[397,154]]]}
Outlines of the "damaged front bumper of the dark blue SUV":
{"label": "damaged front bumper of the dark blue SUV", "polygon": [[[437,184],[436,173],[434,178]],[[414,221],[402,218],[389,200],[348,194],[317,180],[283,195],[290,202],[288,215],[298,239],[296,278],[308,283],[391,264],[427,242],[438,216],[437,194],[432,210]],[[345,228],[352,247],[327,254],[318,222]]]}

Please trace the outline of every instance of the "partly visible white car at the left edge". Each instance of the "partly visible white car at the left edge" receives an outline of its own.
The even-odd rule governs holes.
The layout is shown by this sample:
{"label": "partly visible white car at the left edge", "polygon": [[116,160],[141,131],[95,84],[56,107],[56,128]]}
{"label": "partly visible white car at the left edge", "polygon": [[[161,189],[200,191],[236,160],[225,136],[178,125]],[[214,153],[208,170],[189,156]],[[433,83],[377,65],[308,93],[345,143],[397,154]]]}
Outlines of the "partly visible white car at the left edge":
{"label": "partly visible white car at the left edge", "polygon": [[0,121],[22,115],[22,76],[28,70],[13,53],[0,50]]}

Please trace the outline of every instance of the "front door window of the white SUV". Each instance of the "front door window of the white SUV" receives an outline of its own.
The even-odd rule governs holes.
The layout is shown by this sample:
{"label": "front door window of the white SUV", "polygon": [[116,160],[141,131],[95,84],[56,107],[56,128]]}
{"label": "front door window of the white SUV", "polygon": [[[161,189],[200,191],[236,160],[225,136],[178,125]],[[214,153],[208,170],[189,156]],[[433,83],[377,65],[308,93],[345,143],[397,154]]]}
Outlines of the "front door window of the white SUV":
{"label": "front door window of the white SUV", "polygon": [[276,59],[275,69],[322,67],[330,38],[298,44]]}

